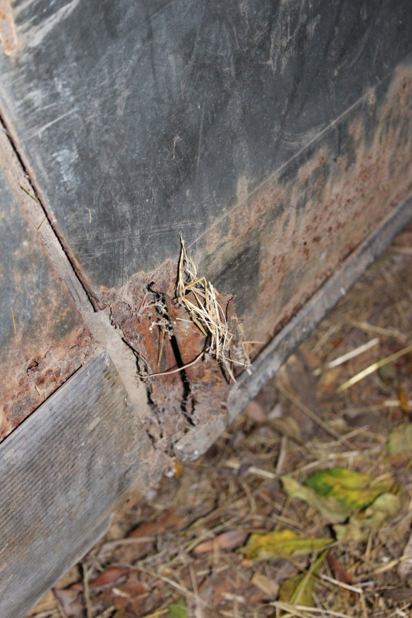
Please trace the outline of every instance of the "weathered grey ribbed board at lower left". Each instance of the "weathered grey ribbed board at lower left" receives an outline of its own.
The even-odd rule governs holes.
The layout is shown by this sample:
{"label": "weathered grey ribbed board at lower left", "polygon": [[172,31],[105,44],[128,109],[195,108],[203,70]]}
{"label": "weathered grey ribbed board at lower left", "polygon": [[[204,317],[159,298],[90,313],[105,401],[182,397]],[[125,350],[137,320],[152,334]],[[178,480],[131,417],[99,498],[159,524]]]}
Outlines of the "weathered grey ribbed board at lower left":
{"label": "weathered grey ribbed board at lower left", "polygon": [[0,616],[20,618],[156,475],[149,439],[96,353],[0,445]]}

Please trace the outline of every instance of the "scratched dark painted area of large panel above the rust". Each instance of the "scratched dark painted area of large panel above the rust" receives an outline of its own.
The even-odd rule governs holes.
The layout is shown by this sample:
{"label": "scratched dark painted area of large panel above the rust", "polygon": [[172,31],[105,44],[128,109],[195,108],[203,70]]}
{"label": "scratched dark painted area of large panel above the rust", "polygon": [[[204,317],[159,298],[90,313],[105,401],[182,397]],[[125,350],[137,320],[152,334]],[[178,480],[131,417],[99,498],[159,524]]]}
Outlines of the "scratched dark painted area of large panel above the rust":
{"label": "scratched dark painted area of large panel above the rust", "polygon": [[2,111],[97,298],[177,256],[179,230],[210,237],[412,51],[410,0],[17,0],[14,18]]}

